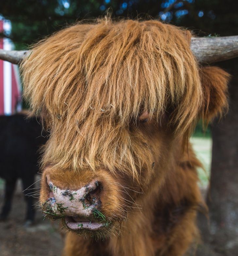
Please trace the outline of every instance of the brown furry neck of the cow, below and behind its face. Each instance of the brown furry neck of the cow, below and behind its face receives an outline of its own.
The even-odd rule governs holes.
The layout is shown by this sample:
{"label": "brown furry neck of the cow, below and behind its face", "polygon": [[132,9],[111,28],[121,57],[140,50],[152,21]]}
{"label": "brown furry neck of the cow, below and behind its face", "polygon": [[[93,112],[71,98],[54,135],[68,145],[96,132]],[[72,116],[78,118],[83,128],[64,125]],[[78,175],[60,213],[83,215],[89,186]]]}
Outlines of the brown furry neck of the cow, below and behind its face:
{"label": "brown furry neck of the cow, below and behind its face", "polygon": [[[136,201],[143,209],[134,208],[128,214],[127,221],[122,223],[120,236],[112,237],[107,242],[110,255],[173,255],[173,252],[167,254],[162,251],[162,248],[164,250],[165,244],[169,243],[172,232],[178,236],[175,239],[181,239],[180,231],[173,231],[180,224],[185,227],[181,232],[189,234],[183,242],[179,242],[181,253],[182,247],[187,248],[193,239],[190,233],[196,231],[193,222],[196,211],[191,209],[203,203],[197,187],[196,174],[196,167],[200,163],[189,144],[188,149],[181,155],[178,148],[175,148],[167,160],[166,167],[164,166],[166,169],[163,170],[167,175],[163,179],[155,177],[150,184],[149,192]],[[190,175],[187,175],[187,172]],[[187,217],[190,223],[186,223]],[[178,255],[182,255],[179,254],[179,250]]]}

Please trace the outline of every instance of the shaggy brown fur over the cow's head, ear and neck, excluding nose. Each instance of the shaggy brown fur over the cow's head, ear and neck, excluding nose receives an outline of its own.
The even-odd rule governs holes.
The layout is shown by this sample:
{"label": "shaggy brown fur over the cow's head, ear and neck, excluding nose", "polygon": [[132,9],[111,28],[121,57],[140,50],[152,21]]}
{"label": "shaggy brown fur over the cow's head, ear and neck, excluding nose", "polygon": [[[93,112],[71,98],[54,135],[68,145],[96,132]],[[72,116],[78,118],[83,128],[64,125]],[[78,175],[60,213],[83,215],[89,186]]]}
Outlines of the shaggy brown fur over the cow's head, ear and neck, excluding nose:
{"label": "shaggy brown fur over the cow's head, ear and neck, excluding nose", "polygon": [[25,97],[51,131],[42,203],[46,174],[61,188],[94,177],[105,188],[106,240],[69,232],[64,255],[179,256],[194,239],[200,163],[184,141],[227,106],[228,74],[199,68],[190,37],[158,21],[104,19],[56,33],[22,64]]}

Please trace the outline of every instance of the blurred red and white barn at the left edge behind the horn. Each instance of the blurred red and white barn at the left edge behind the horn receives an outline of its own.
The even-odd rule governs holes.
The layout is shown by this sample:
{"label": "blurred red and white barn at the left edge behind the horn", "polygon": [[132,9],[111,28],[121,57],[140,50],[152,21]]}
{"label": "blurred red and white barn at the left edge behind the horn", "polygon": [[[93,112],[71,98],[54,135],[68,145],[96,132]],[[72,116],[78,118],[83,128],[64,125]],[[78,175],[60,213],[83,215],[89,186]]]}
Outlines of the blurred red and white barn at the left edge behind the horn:
{"label": "blurred red and white barn at the left edge behind the horn", "polygon": [[[4,21],[0,20],[0,32],[4,31]],[[7,38],[0,38],[0,48],[12,49]],[[16,65],[0,60],[0,114],[11,115],[20,110],[21,90]]]}

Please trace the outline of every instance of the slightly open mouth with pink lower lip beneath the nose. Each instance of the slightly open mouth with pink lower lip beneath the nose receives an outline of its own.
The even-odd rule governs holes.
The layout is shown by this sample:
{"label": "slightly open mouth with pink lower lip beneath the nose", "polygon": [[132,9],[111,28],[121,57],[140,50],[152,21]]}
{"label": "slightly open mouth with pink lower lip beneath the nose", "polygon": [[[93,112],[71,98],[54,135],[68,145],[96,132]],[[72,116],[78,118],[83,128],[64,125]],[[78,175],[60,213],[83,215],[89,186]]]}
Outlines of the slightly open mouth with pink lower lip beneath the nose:
{"label": "slightly open mouth with pink lower lip beneath the nose", "polygon": [[70,230],[98,230],[107,226],[107,223],[93,222],[85,218],[76,218],[72,216],[65,217],[65,224]]}

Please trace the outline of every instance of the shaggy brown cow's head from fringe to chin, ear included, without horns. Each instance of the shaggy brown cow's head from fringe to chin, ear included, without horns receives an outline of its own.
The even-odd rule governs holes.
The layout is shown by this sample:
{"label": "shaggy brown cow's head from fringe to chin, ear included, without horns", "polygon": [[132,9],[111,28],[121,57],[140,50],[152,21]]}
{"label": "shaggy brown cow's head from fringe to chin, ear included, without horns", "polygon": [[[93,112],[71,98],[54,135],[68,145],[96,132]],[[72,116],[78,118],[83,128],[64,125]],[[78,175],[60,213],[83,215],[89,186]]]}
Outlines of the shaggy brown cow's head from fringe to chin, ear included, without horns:
{"label": "shaggy brown cow's head from fringe to chin, ear included, without horns", "polygon": [[84,235],[147,214],[196,120],[227,105],[228,74],[199,67],[190,33],[158,21],[71,26],[35,45],[21,70],[51,134],[43,212]]}

